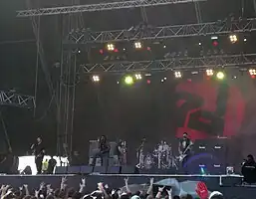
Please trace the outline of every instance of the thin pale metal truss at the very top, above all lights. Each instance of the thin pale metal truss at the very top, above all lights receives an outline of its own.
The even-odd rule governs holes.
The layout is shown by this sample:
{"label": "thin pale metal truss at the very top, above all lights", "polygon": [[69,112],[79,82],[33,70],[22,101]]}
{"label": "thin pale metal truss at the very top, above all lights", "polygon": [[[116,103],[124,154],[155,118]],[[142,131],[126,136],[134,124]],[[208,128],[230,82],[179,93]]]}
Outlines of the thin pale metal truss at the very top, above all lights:
{"label": "thin pale metal truss at the very top, above all lights", "polygon": [[17,17],[31,17],[42,15],[59,15],[68,13],[96,12],[104,10],[118,10],[124,8],[149,7],[177,3],[190,3],[195,1],[206,0],[129,0],[112,3],[100,3],[79,6],[55,7],[55,8],[39,8],[32,10],[17,11]]}

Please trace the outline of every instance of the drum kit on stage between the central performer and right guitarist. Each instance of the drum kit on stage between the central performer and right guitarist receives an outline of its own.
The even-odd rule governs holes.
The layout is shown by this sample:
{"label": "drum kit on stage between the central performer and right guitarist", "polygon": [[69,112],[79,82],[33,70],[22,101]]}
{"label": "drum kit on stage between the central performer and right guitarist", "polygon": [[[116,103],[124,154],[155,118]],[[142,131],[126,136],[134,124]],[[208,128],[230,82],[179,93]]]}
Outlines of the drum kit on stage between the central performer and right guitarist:
{"label": "drum kit on stage between the central performer and right guitarist", "polygon": [[158,169],[178,169],[178,163],[175,156],[172,153],[171,145],[165,141],[160,141],[150,153],[143,155],[140,151],[139,167],[150,169],[156,167]]}

